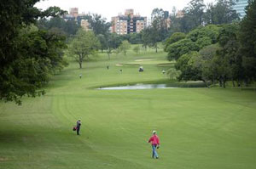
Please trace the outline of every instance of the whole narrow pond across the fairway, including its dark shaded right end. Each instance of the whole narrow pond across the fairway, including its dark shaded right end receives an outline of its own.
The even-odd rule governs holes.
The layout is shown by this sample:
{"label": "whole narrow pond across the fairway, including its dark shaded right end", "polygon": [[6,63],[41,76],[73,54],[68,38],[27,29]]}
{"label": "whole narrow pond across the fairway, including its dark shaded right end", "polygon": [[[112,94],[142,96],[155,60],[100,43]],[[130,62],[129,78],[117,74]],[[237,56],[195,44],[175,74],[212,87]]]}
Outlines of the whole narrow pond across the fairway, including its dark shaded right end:
{"label": "whole narrow pond across the fairway, including its dark shaded right end", "polygon": [[204,85],[173,85],[173,84],[136,84],[119,87],[100,87],[98,90],[135,90],[135,89],[153,89],[153,88],[181,88],[181,87],[205,87]]}

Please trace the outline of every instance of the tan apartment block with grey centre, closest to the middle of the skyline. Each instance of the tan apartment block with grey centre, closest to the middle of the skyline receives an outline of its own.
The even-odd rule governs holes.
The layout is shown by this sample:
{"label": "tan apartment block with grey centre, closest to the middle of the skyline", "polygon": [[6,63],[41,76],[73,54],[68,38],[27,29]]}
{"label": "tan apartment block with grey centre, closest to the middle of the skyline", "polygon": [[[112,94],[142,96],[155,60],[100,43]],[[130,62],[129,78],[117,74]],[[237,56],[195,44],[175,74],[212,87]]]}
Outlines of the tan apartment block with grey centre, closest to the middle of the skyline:
{"label": "tan apartment block with grey centre, closest to the middle of the skyline", "polygon": [[133,9],[126,9],[125,15],[112,17],[111,32],[119,35],[139,33],[147,26],[147,17],[134,14]]}

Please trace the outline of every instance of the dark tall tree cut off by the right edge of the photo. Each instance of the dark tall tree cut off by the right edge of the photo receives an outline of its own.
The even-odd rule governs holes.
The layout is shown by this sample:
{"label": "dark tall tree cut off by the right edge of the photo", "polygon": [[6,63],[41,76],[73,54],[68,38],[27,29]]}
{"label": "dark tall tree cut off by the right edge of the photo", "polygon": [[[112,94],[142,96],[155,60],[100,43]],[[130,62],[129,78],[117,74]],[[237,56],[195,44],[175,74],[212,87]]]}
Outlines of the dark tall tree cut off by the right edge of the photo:
{"label": "dark tall tree cut off by the right edge of the photo", "polygon": [[248,1],[246,16],[241,20],[239,30],[240,54],[242,55],[242,67],[245,70],[247,82],[256,79],[256,2]]}

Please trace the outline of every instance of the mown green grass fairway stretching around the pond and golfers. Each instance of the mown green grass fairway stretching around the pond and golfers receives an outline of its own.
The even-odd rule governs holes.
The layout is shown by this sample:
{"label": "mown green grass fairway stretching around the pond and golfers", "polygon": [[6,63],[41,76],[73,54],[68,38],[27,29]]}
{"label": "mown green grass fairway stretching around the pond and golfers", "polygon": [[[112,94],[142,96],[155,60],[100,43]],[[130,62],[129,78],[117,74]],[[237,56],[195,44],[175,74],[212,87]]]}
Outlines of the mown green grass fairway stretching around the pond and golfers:
{"label": "mown green grass fairway stretching around the pond and golfers", "polygon": [[[166,80],[161,71],[170,66],[153,50],[110,60],[99,54],[82,70],[71,62],[43,97],[0,103],[0,169],[255,169],[253,90],[92,89]],[[81,136],[72,131],[79,118]],[[159,160],[147,143],[153,130]]]}

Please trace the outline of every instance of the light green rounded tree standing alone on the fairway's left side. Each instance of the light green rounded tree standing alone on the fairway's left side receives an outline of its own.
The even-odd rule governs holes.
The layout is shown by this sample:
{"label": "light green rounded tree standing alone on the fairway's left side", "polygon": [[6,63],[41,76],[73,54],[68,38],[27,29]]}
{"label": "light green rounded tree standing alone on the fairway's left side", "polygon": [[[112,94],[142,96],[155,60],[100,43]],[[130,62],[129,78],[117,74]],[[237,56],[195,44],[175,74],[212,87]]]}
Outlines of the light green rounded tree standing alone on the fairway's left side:
{"label": "light green rounded tree standing alone on the fairway's left side", "polygon": [[79,68],[82,69],[84,59],[88,60],[90,55],[95,54],[100,45],[99,40],[92,31],[80,29],[69,44],[68,54],[79,63]]}

